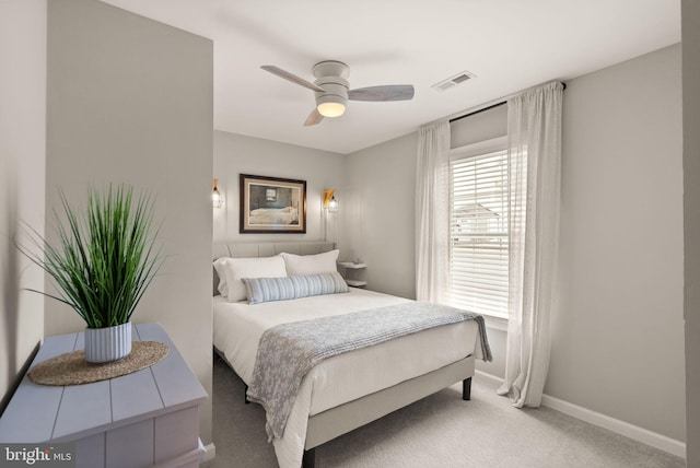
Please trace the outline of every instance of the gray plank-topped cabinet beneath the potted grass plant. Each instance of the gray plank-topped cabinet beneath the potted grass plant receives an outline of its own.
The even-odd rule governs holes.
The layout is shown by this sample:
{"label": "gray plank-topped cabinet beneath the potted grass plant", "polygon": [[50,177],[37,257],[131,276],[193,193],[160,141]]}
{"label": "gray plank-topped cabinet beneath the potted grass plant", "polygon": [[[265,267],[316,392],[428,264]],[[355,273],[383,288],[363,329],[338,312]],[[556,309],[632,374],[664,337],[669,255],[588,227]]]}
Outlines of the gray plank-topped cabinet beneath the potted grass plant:
{"label": "gray plank-topped cabinet beneath the potted grass plant", "polygon": [[[0,418],[0,443],[74,443],[75,467],[197,467],[207,393],[165,330],[136,325],[133,340],[170,347],[161,362],[121,377],[66,387],[20,384]],[[47,337],[32,365],[83,348],[83,334]]]}

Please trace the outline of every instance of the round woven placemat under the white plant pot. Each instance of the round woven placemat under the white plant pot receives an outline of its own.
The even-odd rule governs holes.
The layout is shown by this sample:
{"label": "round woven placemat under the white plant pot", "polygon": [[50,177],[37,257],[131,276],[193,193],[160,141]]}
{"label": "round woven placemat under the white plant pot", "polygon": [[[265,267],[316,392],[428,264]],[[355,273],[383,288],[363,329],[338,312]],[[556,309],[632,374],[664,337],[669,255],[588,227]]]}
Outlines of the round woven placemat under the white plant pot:
{"label": "round woven placemat under the white plant pot", "polygon": [[158,341],[133,341],[128,356],[105,364],[89,364],[84,351],[73,351],[37,364],[28,374],[32,382],[42,385],[90,384],[149,367],[165,358],[167,351],[167,344]]}

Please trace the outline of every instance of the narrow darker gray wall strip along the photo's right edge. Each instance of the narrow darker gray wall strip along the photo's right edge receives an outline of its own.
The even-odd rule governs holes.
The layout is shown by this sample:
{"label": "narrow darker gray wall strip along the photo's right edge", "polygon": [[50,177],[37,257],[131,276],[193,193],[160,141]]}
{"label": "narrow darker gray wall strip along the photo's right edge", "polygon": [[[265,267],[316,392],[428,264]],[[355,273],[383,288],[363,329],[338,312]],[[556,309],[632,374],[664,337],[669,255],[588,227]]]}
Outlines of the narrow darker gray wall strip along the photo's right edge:
{"label": "narrow darker gray wall strip along the photo's right edge", "polygon": [[682,0],[686,418],[689,468],[700,467],[700,3]]}

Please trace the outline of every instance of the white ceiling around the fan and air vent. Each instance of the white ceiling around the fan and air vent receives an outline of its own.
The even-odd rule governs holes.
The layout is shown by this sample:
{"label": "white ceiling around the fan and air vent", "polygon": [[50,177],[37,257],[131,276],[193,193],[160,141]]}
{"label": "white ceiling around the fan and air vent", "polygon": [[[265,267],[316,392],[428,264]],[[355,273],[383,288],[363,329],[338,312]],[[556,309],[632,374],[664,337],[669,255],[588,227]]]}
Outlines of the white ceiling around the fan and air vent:
{"label": "white ceiling around the fan and air vent", "polygon": [[[680,40],[679,0],[103,0],[214,44],[214,128],[338,153],[415,131],[550,80]],[[304,127],[314,63],[350,66],[350,87],[413,84],[412,101],[349,102]],[[446,92],[458,72],[477,78]],[[660,83],[661,85],[661,83]]]}

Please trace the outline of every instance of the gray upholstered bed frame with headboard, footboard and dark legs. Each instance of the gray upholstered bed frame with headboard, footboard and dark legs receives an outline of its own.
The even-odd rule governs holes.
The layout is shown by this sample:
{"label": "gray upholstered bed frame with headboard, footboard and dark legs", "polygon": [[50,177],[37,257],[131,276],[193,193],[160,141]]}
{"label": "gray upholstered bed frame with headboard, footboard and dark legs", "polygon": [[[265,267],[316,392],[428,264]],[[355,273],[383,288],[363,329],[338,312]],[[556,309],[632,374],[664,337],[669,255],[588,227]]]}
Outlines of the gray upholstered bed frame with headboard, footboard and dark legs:
{"label": "gray upholstered bed frame with headboard, footboard and dark legs", "polygon": [[[335,244],[327,242],[214,244],[213,259],[215,260],[220,257],[271,257],[282,251],[296,255],[313,255],[329,251],[334,248]],[[217,295],[219,294],[217,291],[219,279],[215,271],[213,274],[213,294]],[[217,352],[228,363],[223,353],[218,350]],[[428,374],[401,382],[393,387],[310,417],[306,428],[306,442],[304,444],[303,467],[314,468],[315,449],[319,445],[459,381],[462,381],[462,399],[469,400],[472,376],[474,355],[470,355]]]}

